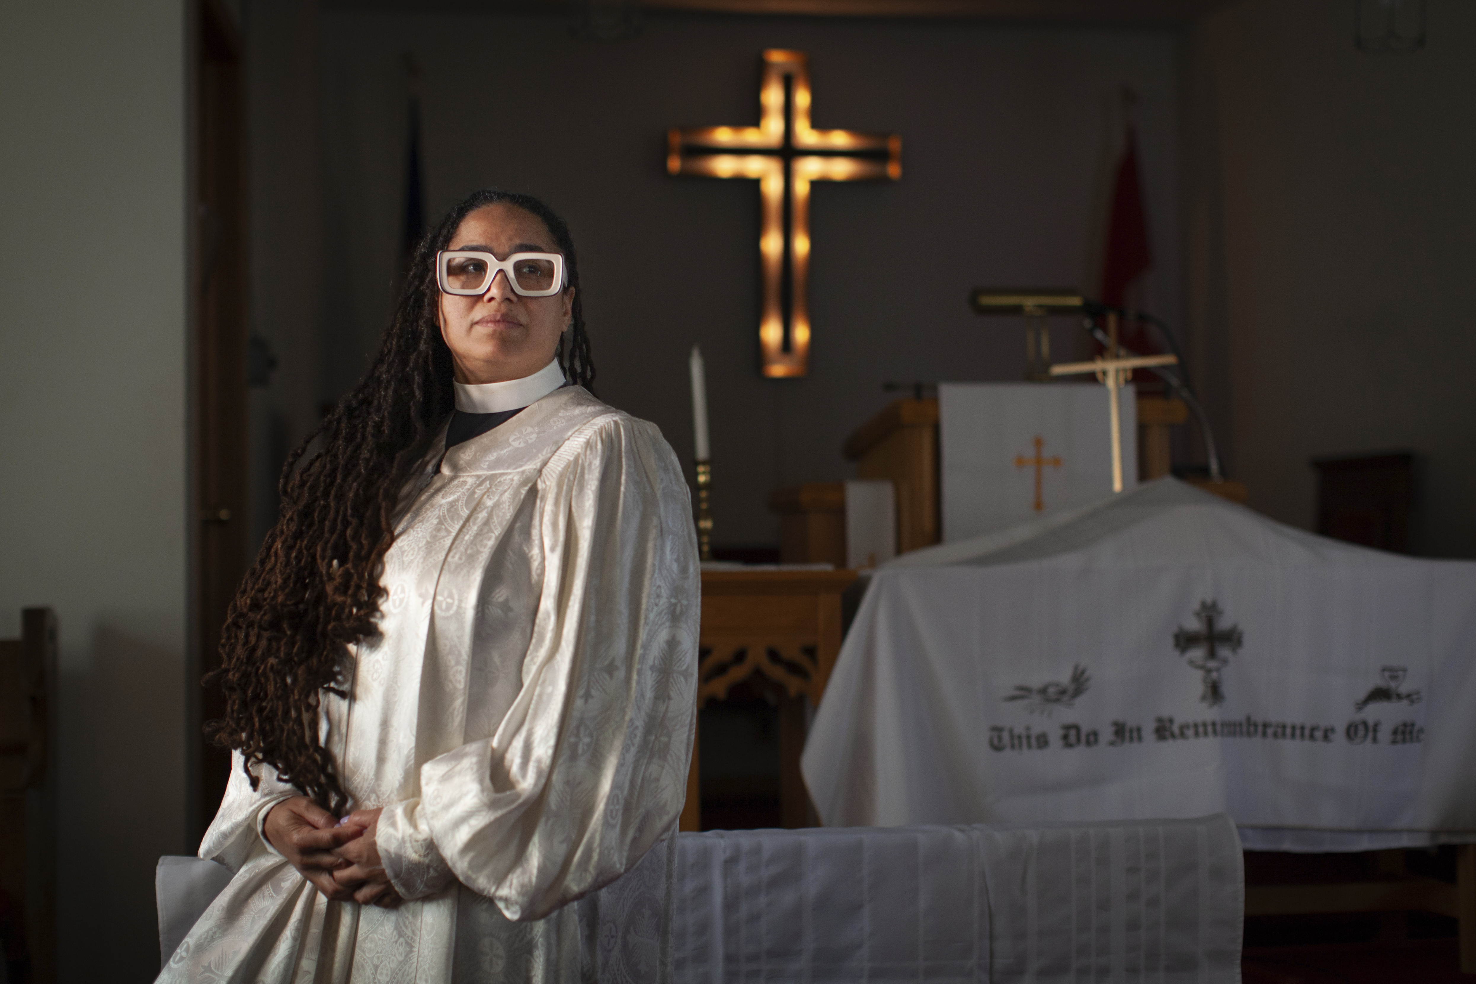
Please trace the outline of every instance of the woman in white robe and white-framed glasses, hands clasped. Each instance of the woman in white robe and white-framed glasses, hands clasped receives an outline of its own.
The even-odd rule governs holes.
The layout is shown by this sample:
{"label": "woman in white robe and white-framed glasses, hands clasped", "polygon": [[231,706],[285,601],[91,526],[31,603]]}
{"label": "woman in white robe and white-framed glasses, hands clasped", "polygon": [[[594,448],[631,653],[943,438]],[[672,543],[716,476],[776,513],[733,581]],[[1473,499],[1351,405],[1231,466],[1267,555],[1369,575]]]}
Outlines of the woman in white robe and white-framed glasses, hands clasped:
{"label": "woman in white robe and white-framed glasses, hands clasped", "polygon": [[[524,294],[524,273],[508,267],[492,268],[484,294],[465,277],[456,283],[471,288],[450,294],[447,267],[430,271],[447,248],[481,249],[493,267],[559,255],[559,291]],[[316,785],[282,782],[283,761],[313,775],[311,760],[252,732],[261,714],[244,696],[272,692],[252,690],[272,683],[263,674],[297,680],[280,654],[306,651],[270,643],[258,623],[276,615],[251,621],[270,581],[248,577],[227,624],[248,642],[224,649],[236,704],[217,730],[244,738],[199,848],[235,878],[161,981],[666,980],[669,834],[695,723],[695,536],[657,428],[564,382],[555,347],[570,375],[589,373],[587,342],[562,330],[582,329],[573,266],[562,223],[523,196],[478,193],[422,243],[406,292],[437,285],[431,330],[455,375],[452,429],[496,426],[446,448],[443,422],[430,453],[412,444],[415,474],[387,510],[393,540],[375,568],[373,631],[316,689],[331,760]],[[393,336],[413,332],[424,308],[401,301],[372,378],[393,370]],[[345,404],[345,417],[354,406],[373,416]],[[311,490],[295,491],[314,507]],[[289,562],[291,524],[279,530],[258,568]],[[308,569],[332,583],[328,556],[317,550]],[[272,659],[258,651],[286,661],[285,676],[263,670]],[[353,807],[342,820],[323,808],[335,786]]]}

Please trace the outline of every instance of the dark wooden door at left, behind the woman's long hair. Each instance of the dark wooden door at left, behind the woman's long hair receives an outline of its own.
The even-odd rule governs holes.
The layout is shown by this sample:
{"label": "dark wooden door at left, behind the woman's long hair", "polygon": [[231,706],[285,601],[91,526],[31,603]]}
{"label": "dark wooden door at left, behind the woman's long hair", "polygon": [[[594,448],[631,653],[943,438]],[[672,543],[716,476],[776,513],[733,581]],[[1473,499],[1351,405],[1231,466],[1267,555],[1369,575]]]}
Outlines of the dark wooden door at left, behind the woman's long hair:
{"label": "dark wooden door at left, behind the woman's long hair", "polygon": [[192,831],[210,825],[230,755],[205,742],[224,711],[199,679],[220,662],[220,628],[246,567],[246,273],[242,65],[218,0],[198,0],[193,63],[193,364],[190,726]]}

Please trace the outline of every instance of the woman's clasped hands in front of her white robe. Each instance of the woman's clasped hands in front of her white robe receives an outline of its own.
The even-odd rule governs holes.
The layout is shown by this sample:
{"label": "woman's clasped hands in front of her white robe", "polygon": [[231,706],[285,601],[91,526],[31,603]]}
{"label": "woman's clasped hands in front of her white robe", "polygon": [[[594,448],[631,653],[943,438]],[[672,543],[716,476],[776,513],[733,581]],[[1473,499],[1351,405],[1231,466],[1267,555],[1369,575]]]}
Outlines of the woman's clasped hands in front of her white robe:
{"label": "woman's clasped hands in front of her white robe", "polygon": [[272,847],[328,898],[393,909],[401,898],[379,860],[378,829],[379,810],[356,810],[339,825],[307,797],[283,800],[263,823]]}

